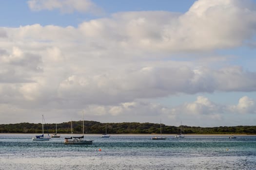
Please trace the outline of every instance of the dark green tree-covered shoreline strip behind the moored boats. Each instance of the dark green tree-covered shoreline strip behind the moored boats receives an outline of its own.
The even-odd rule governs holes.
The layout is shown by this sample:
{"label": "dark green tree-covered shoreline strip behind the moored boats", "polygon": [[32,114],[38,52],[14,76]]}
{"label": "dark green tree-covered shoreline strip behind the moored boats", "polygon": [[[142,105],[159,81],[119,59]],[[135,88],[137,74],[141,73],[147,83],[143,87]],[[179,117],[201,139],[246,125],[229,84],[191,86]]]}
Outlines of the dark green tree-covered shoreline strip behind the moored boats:
{"label": "dark green tree-covered shoreline strip behind the moored boats", "polygon": [[[73,133],[82,133],[82,121],[73,121]],[[105,123],[98,121],[84,121],[86,134],[105,133]],[[71,122],[57,124],[58,133],[71,133]],[[55,133],[56,124],[44,124],[45,133]],[[163,134],[177,134],[178,126],[162,124]],[[107,123],[108,134],[159,134],[160,124],[156,123]],[[0,133],[42,133],[41,123],[0,124]],[[220,126],[220,127],[191,127],[182,126],[184,134],[256,134],[256,126]]]}

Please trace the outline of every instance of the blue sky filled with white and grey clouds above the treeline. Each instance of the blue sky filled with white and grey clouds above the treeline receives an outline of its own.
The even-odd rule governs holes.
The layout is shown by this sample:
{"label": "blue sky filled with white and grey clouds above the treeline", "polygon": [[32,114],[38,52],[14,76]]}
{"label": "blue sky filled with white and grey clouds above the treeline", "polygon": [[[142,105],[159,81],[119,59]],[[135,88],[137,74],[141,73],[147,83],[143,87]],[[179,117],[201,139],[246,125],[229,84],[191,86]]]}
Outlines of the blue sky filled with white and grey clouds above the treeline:
{"label": "blue sky filled with white and grey clouds above the treeline", "polygon": [[256,125],[255,48],[256,0],[2,0],[0,124]]}

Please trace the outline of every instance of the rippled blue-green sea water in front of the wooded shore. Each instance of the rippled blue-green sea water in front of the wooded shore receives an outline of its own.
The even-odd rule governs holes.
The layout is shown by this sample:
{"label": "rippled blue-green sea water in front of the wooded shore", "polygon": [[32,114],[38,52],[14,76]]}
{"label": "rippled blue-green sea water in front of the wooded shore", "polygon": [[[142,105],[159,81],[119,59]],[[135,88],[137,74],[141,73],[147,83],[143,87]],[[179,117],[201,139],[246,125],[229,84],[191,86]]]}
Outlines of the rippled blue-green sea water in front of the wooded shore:
{"label": "rippled blue-green sea water in front of the wooded shore", "polygon": [[0,170],[256,170],[256,136],[85,136],[92,145],[33,136],[0,134]]}

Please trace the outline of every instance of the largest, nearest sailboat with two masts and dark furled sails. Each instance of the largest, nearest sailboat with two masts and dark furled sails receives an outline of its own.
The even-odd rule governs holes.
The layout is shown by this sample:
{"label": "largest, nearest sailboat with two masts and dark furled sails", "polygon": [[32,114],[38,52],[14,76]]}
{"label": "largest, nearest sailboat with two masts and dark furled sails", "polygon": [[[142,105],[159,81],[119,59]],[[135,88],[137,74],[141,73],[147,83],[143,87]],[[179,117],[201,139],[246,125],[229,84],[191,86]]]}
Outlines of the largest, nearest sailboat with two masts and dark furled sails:
{"label": "largest, nearest sailboat with two masts and dark furled sails", "polygon": [[83,122],[83,135],[82,136],[73,136],[73,127],[71,121],[71,137],[65,137],[64,144],[68,145],[92,145],[93,140],[83,140],[84,138],[84,122]]}

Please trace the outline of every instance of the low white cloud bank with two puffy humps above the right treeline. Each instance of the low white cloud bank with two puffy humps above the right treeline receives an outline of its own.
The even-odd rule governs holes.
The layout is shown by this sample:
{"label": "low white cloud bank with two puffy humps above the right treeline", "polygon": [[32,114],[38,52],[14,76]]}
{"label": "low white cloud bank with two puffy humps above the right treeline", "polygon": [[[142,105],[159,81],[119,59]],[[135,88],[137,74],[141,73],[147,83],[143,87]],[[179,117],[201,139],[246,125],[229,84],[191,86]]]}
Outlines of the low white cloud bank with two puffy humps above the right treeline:
{"label": "low white cloud bank with two puffy humps above the right treeline", "polygon": [[[242,119],[246,119],[249,114],[255,114],[255,110],[255,100],[247,96],[240,98],[237,105],[223,105],[212,102],[206,97],[198,96],[194,102],[185,102],[173,107],[171,116],[191,125],[202,123],[204,126],[223,126],[223,124],[231,122],[232,124],[234,122],[244,124]],[[239,118],[240,114],[243,114],[244,118]],[[253,122],[253,120],[248,121]]]}

